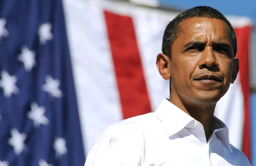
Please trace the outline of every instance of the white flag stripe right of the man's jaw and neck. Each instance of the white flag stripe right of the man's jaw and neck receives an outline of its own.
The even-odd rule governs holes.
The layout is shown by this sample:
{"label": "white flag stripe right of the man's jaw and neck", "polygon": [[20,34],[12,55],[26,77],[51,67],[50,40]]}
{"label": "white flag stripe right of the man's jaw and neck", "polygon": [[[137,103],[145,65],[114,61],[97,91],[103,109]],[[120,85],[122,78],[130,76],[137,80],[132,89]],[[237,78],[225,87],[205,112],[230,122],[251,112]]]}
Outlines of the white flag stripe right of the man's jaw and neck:
{"label": "white flag stripe right of the man's jaw and neck", "polygon": [[244,129],[244,95],[239,80],[230,85],[227,93],[217,103],[215,116],[229,128],[230,143],[242,149]]}

